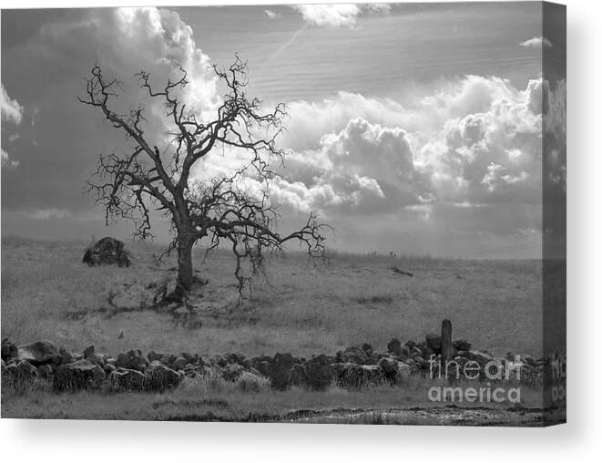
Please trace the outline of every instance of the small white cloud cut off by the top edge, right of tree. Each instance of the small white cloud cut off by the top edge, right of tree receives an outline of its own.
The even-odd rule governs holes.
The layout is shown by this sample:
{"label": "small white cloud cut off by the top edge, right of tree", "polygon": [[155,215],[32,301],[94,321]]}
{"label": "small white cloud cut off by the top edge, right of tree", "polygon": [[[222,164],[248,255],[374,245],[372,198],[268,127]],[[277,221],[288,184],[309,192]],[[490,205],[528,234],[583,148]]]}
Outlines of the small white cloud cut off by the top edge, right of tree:
{"label": "small white cloud cut off by the top edge, right of tree", "polygon": [[391,11],[388,4],[332,4],[293,5],[303,20],[313,26],[352,27],[362,14],[386,14]]}

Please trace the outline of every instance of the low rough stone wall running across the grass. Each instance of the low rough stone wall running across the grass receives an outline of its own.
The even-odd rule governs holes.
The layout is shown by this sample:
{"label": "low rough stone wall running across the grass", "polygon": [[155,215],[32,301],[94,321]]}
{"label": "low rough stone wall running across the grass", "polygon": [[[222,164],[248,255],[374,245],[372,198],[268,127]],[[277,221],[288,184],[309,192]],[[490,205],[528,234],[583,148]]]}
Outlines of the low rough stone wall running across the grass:
{"label": "low rough stone wall running across the grass", "polygon": [[[44,378],[51,381],[57,393],[78,390],[106,390],[110,392],[149,391],[165,392],[173,389],[185,377],[217,374],[224,381],[247,380],[263,376],[277,390],[301,386],[315,391],[332,385],[345,388],[391,385],[402,386],[410,376],[429,375],[433,362],[440,359],[442,342],[437,334],[427,334],[423,341],[404,344],[393,338],[386,352],[378,352],[372,345],[347,347],[335,355],[296,357],[289,353],[261,355],[248,358],[242,354],[213,355],[143,354],[130,350],[110,356],[96,352],[89,346],[74,354],[51,341],[36,341],[15,345],[8,339],[2,342],[2,376],[21,383],[33,383]],[[458,365],[468,361],[485,365],[495,360],[486,351],[472,350],[472,345],[457,339],[452,343],[452,356]],[[506,355],[511,361],[510,354]],[[531,376],[539,376],[545,359],[534,360],[525,355],[524,365]],[[251,384],[251,382],[249,383]]]}

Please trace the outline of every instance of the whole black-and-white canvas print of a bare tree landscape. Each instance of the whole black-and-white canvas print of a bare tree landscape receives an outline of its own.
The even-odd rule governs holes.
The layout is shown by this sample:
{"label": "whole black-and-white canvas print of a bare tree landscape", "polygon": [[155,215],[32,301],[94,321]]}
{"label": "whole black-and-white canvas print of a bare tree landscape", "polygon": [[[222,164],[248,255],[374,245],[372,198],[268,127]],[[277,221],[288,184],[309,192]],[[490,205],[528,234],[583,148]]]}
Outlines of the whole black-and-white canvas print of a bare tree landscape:
{"label": "whole black-and-white canvas print of a bare tree landscape", "polygon": [[2,417],[566,420],[566,8],[2,11]]}

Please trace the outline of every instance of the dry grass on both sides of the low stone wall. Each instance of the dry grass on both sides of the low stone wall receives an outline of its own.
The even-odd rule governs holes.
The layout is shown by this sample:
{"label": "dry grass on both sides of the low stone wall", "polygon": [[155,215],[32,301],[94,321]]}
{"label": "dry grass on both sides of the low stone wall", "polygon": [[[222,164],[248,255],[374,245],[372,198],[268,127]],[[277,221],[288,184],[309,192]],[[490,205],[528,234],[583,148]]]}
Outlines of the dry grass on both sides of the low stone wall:
{"label": "dry grass on both sides of the low stone wall", "polygon": [[[541,265],[536,261],[463,261],[425,256],[333,254],[314,266],[295,252],[272,257],[268,281],[258,281],[253,297],[241,304],[234,261],[216,252],[199,275],[209,283],[193,302],[202,327],[174,324],[171,314],[154,310],[107,311],[109,294],[124,284],[173,279],[156,268],[162,249],[128,243],[133,265],[89,268],[81,262],[86,242],[2,241],[2,337],[17,344],[50,339],[81,351],[116,355],[143,352],[240,352],[297,356],[334,354],[350,345],[371,344],[385,351],[391,337],[420,341],[437,332],[441,320],[454,324],[454,338],[495,355],[507,351],[538,356],[542,338]],[[174,262],[165,262],[165,267]],[[412,273],[393,272],[393,268]],[[374,386],[326,392],[270,387],[249,392],[231,383],[208,385],[187,379],[163,395],[150,393],[56,395],[44,382],[25,394],[3,388],[3,417],[97,419],[203,419],[355,424],[537,425],[539,413],[515,411],[502,403],[468,411],[434,407],[426,390],[411,378],[403,387]],[[542,406],[541,389],[523,387],[521,406]],[[416,408],[418,407],[418,408]]]}

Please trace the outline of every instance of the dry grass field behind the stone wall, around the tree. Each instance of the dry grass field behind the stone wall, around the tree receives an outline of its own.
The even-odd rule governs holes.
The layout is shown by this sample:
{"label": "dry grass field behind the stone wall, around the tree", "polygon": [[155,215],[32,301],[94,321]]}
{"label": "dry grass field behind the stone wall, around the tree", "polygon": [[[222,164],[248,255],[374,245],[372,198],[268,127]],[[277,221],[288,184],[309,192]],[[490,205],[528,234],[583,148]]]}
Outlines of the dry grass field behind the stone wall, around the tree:
{"label": "dry grass field behind the stone wall, around the tree", "polygon": [[[128,243],[134,262],[129,269],[88,268],[81,263],[86,245],[3,239],[3,337],[18,344],[47,338],[74,350],[95,345],[111,354],[139,348],[309,356],[364,342],[383,350],[392,336],[420,340],[450,318],[454,337],[477,348],[541,354],[542,275],[536,261],[334,254],[316,268],[290,253],[270,259],[270,284],[258,283],[254,298],[237,307],[230,255],[216,252],[202,263],[199,252],[196,265],[209,284],[198,290],[196,303],[208,310],[202,328],[190,330],[174,325],[168,314],[99,312],[119,283],[174,276],[154,266],[153,253],[161,248]],[[414,276],[393,273],[392,267]]]}

